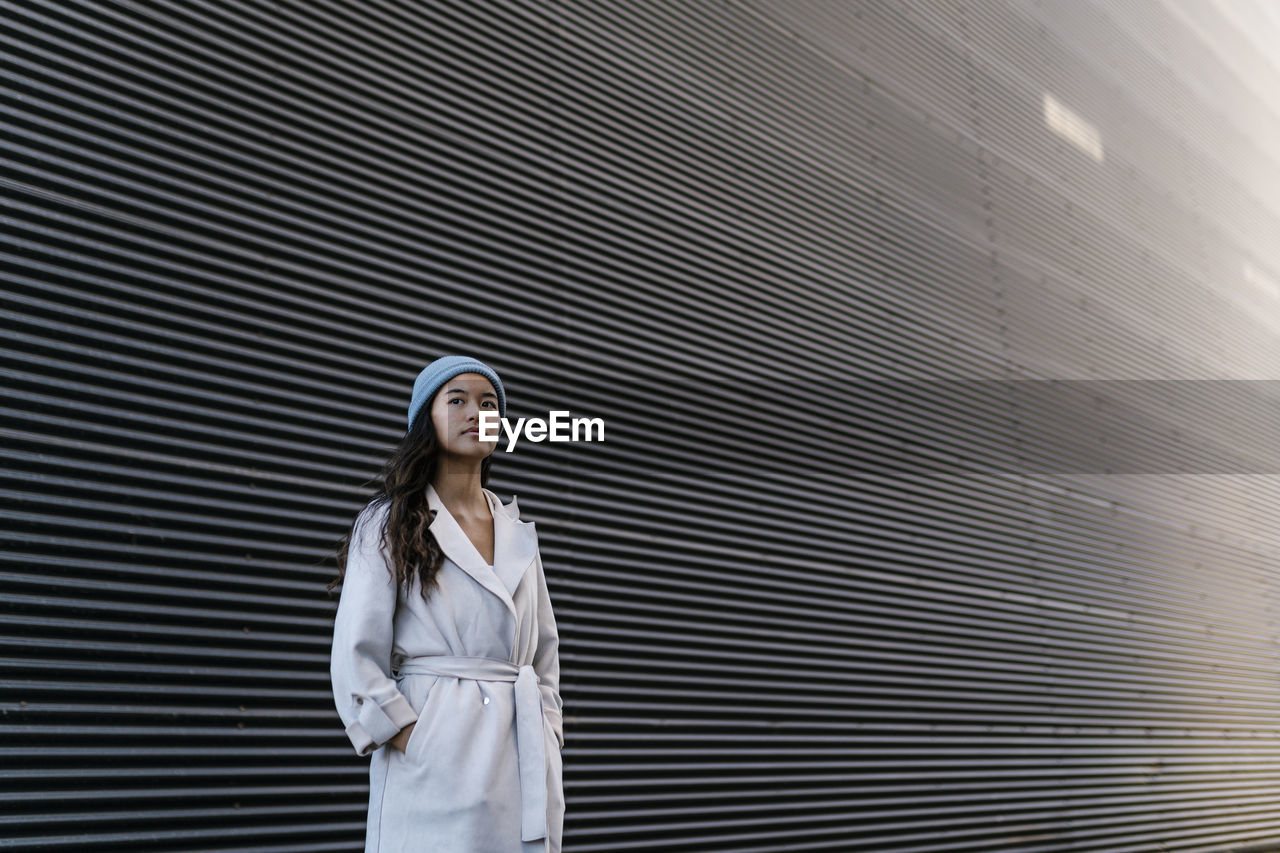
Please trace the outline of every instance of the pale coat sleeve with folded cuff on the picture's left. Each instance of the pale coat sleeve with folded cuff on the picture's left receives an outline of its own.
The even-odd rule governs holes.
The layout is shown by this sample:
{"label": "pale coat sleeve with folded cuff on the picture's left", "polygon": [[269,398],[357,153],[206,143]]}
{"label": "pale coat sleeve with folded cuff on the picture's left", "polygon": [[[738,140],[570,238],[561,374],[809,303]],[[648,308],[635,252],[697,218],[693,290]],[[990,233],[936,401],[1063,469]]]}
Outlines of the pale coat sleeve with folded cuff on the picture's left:
{"label": "pale coat sleeve with folded cuff on the picture's left", "polygon": [[396,579],[378,542],[380,526],[381,515],[369,507],[352,525],[329,658],[338,716],[361,756],[417,720],[390,676]]}

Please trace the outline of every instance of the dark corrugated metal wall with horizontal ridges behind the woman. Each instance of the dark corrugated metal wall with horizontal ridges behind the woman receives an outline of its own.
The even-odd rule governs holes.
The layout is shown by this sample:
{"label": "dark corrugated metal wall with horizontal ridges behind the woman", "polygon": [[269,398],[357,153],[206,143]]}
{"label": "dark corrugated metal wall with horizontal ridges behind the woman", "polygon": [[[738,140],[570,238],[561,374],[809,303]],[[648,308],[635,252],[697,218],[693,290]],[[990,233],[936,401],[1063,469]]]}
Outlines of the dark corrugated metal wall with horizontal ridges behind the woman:
{"label": "dark corrugated metal wall with horizontal ridges behind the woman", "polygon": [[0,1],[0,848],[361,848],[326,556],[457,350],[607,424],[492,483],[566,850],[1280,848],[1275,471],[1029,474],[1061,424],[893,382],[1274,374],[1277,32]]}

